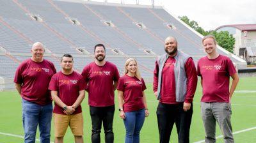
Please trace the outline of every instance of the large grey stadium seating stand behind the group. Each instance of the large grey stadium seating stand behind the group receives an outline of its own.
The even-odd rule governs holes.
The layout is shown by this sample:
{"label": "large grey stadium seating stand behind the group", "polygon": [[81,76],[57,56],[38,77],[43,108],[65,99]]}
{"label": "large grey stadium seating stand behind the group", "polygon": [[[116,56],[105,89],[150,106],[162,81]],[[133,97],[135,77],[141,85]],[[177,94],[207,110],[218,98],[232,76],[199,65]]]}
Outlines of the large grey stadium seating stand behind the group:
{"label": "large grey stadium seating stand behind the group", "polygon": [[[195,62],[205,56],[202,36],[161,6],[96,3],[78,0],[0,0],[0,60],[2,79],[12,80],[31,45],[44,43],[49,59],[60,70],[63,54],[72,54],[78,72],[93,61],[93,47],[106,45],[106,58],[122,74],[125,59],[140,63],[142,77],[152,78],[156,57],[164,54],[164,38],[175,36],[182,52]],[[220,47],[240,68],[246,63]]]}

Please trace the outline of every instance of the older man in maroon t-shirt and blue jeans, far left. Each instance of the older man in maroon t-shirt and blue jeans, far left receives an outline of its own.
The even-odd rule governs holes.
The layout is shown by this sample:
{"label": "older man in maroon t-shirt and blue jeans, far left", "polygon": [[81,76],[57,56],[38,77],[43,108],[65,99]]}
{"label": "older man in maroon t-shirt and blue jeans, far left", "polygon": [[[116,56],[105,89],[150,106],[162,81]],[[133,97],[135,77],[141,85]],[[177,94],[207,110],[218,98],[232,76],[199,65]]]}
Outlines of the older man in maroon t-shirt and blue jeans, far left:
{"label": "older man in maroon t-shirt and blue jeans, far left", "polygon": [[14,77],[16,89],[22,97],[25,143],[35,142],[37,126],[40,142],[50,142],[52,101],[48,86],[56,69],[51,61],[44,59],[44,52],[42,43],[34,43],[32,57],[19,65]]}

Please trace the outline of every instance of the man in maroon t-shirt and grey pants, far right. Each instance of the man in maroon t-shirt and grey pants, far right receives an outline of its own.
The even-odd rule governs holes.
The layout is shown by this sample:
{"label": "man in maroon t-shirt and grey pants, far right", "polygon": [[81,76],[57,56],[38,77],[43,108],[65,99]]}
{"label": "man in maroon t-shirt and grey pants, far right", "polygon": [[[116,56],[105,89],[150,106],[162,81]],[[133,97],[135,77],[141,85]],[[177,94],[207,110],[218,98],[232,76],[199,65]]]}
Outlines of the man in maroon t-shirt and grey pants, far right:
{"label": "man in maroon t-shirt and grey pants, far right", "polygon": [[[205,128],[205,142],[216,142],[216,121],[223,133],[224,142],[234,142],[230,121],[230,100],[239,77],[232,61],[218,54],[214,36],[205,36],[202,43],[207,56],[199,59],[197,70],[203,87],[201,113]],[[229,89],[230,77],[232,77],[232,84]]]}

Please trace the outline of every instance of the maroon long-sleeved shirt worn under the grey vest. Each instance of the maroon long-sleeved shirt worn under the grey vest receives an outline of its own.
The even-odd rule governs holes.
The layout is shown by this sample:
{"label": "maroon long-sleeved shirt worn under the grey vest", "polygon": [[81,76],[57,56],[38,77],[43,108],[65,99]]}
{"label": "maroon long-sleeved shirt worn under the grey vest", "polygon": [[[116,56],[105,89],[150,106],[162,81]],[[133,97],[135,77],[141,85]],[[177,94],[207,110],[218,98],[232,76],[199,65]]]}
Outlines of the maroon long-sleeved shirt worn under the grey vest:
{"label": "maroon long-sleeved shirt worn under the grey vest", "polygon": [[[162,84],[161,84],[161,99],[159,102],[161,103],[168,103],[173,104],[176,102],[176,94],[175,94],[175,74],[174,74],[174,68],[175,68],[175,58],[174,57],[168,57],[166,60],[166,63],[164,63],[164,68],[162,70]],[[153,81],[153,91],[157,91],[158,86],[158,72],[159,72],[159,66],[156,61],[156,67],[154,70],[154,81]],[[187,83],[187,94],[185,101],[186,103],[193,102],[193,97],[196,91],[196,85],[197,85],[197,75],[196,75],[196,67],[193,62],[193,59],[190,57],[186,61],[185,64],[185,72],[186,76],[188,78]]]}

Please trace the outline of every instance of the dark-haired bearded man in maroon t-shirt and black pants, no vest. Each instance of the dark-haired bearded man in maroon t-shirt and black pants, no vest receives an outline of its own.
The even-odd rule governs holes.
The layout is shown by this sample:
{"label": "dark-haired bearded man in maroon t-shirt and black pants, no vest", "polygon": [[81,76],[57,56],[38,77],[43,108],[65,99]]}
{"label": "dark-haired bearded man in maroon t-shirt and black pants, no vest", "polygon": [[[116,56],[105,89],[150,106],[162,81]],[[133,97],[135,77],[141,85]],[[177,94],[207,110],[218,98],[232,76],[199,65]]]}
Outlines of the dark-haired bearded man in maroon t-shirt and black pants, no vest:
{"label": "dark-haired bearded man in maroon t-shirt and black pants, no vest", "polygon": [[92,143],[100,143],[103,123],[105,142],[114,142],[113,117],[115,112],[114,91],[119,79],[115,64],[105,61],[106,49],[103,44],[94,47],[95,61],[86,65],[82,75],[88,82],[88,102],[92,119]]}

